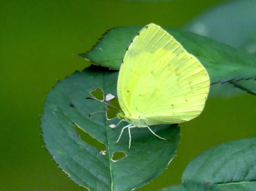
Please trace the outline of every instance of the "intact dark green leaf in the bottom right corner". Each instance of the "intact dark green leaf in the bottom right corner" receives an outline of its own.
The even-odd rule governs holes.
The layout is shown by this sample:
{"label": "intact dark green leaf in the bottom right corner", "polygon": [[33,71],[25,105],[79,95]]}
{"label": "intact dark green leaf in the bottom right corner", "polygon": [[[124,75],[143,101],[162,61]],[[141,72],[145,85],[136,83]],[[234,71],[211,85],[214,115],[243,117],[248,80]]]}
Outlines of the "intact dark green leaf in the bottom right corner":
{"label": "intact dark green leaf in the bottom right corner", "polygon": [[189,162],[182,181],[193,178],[227,190],[256,187],[256,138],[212,147]]}

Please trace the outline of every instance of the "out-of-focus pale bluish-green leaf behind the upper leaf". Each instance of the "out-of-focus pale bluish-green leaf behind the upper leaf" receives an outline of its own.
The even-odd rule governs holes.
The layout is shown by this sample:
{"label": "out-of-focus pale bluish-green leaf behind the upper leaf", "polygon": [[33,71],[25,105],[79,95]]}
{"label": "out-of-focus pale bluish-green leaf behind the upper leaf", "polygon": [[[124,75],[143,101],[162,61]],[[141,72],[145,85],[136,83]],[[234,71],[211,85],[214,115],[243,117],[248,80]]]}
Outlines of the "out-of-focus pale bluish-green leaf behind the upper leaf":
{"label": "out-of-focus pale bluish-green leaf behind the upper leaf", "polygon": [[[213,38],[248,54],[256,56],[256,2],[255,0],[222,2],[198,15],[185,27],[199,35]],[[245,54],[247,55],[247,54]],[[254,68],[255,65],[254,65]],[[225,70],[224,70],[225,71]],[[241,76],[242,77],[242,76]],[[255,75],[253,76],[255,78]],[[240,90],[256,95],[256,82],[253,80],[233,81]],[[231,86],[230,86],[231,87]],[[219,94],[237,94],[241,91],[228,86],[213,87]]]}

